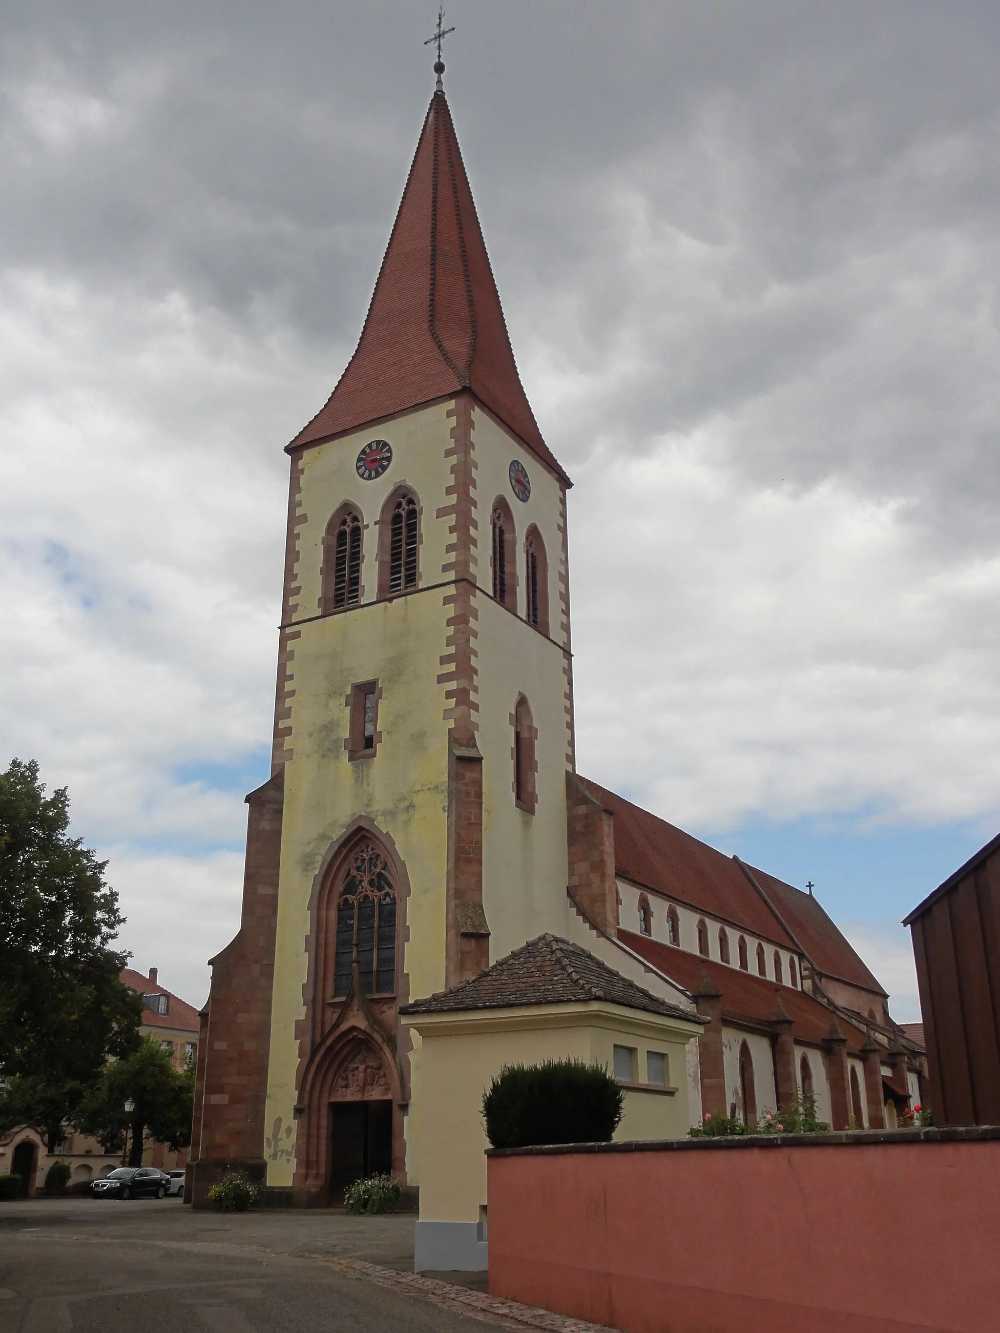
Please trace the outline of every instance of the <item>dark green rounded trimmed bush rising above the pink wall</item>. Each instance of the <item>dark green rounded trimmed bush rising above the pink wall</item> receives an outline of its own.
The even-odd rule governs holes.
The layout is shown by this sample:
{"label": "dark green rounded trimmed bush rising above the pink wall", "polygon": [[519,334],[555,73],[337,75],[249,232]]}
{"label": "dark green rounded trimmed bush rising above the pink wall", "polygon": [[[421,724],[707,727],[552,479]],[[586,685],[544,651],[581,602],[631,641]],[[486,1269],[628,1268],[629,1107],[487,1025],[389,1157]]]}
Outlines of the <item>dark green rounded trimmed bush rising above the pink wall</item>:
{"label": "dark green rounded trimmed bush rising above the pink wall", "polygon": [[493,1148],[607,1144],[621,1121],[624,1092],[601,1065],[545,1060],[504,1065],[483,1093]]}

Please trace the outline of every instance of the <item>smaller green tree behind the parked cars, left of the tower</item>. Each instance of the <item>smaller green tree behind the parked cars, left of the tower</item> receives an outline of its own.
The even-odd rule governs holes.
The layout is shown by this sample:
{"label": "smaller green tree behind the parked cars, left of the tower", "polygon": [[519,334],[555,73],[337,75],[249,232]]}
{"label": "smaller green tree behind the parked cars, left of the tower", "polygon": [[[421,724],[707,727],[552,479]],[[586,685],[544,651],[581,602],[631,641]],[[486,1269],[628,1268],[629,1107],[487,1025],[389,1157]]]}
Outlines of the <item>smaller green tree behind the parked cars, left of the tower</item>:
{"label": "smaller green tree behind the parked cars, left of the tower", "polygon": [[193,1113],[195,1070],[175,1069],[169,1053],[145,1037],[133,1054],[105,1066],[75,1124],[105,1145],[129,1134],[128,1164],[141,1166],[147,1136],[175,1152],[188,1146]]}

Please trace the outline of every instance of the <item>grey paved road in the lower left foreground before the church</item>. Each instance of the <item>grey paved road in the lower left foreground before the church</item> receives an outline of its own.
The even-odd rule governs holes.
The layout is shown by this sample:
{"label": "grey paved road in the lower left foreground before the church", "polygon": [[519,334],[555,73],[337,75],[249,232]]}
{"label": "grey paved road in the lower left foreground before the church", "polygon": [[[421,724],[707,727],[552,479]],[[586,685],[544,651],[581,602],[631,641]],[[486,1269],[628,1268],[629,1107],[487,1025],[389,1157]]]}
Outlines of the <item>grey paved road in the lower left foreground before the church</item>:
{"label": "grey paved road in the lower left foreground before the church", "polygon": [[0,1204],[0,1333],[483,1333],[477,1318],[320,1261],[407,1272],[412,1254],[409,1216]]}

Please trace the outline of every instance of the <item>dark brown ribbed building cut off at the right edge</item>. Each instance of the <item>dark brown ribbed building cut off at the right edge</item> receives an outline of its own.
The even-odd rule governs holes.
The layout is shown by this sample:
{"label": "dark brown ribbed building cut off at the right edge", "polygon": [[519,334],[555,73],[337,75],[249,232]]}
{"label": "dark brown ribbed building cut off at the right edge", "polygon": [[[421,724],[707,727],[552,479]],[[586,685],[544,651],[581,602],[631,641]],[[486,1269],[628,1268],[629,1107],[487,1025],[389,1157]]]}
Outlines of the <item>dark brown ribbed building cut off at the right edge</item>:
{"label": "dark brown ribbed building cut off at the right edge", "polygon": [[935,1125],[997,1125],[1000,836],[903,924],[913,940]]}

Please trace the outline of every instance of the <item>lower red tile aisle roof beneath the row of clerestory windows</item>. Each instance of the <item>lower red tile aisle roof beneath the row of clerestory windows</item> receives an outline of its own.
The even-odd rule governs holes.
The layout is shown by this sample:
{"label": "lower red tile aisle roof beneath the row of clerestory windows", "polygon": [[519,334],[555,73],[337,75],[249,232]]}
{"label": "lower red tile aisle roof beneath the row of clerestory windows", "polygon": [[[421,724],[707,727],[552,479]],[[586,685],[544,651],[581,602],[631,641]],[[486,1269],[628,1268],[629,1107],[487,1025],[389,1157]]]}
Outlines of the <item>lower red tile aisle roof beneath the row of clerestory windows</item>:
{"label": "lower red tile aisle roof beneath the row of clerestory windows", "polygon": [[[708,974],[723,994],[723,1018],[731,1022],[740,1020],[751,1025],[767,1024],[775,1013],[777,997],[781,997],[788,1017],[795,1022],[793,1036],[799,1041],[819,1044],[829,1032],[833,1021],[833,1012],[819,1000],[796,990],[793,986],[779,986],[764,977],[755,977],[751,972],[740,968],[729,968],[724,962],[715,962],[701,958],[695,953],[685,953],[669,944],[651,940],[645,934],[633,934],[631,930],[620,930],[619,938],[629,949],[635,949],[647,962],[652,962],[671,981],[676,981],[685,990],[693,990],[701,976],[701,968],[708,968]],[[847,1049],[857,1054],[865,1042],[867,1033],[837,1014],[837,1025],[847,1037]]]}

